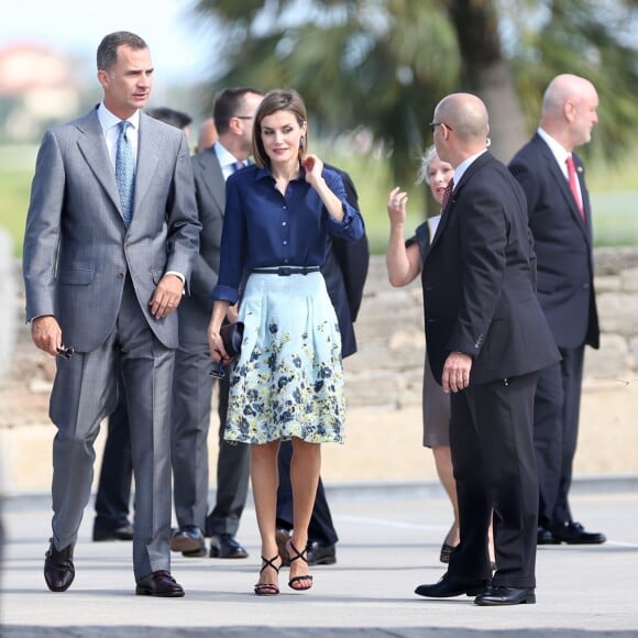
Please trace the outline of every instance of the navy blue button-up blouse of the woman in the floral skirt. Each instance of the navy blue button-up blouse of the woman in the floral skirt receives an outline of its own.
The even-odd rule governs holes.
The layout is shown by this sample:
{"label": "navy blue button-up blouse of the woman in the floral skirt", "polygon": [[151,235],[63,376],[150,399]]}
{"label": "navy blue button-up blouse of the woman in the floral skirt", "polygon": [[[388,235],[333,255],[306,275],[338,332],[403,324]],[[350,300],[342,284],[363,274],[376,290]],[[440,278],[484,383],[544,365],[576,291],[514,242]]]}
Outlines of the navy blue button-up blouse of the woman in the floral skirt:
{"label": "navy blue button-up blouse of the woman in the floral skirt", "polygon": [[336,221],[301,167],[286,195],[275,186],[268,167],[249,166],[226,184],[219,278],[213,299],[234,304],[245,268],[321,266],[328,235],[354,241],[363,237],[363,218],[345,199],[341,176],[323,168],[323,179],[341,200],[343,220]]}

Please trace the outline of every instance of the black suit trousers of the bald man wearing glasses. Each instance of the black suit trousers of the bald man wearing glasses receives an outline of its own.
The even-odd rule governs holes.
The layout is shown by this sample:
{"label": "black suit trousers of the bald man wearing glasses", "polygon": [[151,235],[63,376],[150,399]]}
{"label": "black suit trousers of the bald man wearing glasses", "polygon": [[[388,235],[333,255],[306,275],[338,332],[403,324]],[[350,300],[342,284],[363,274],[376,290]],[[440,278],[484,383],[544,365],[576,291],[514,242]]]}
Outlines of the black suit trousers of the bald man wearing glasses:
{"label": "black suit trousers of the bald man wearing glasses", "polygon": [[536,586],[538,479],[534,394],[538,373],[471,385],[451,395],[450,447],[461,542],[450,573],[488,579],[487,529],[494,519],[499,586]]}

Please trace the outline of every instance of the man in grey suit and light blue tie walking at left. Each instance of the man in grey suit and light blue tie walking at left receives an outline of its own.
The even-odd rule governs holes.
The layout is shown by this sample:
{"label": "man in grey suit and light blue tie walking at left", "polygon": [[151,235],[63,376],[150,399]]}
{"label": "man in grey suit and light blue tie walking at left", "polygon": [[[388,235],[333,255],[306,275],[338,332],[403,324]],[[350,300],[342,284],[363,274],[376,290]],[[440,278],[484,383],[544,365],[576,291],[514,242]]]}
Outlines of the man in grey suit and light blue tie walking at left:
{"label": "man in grey suit and light blue tie walking at left", "polygon": [[170,575],[170,408],[175,310],[199,244],[191,164],[184,133],[140,111],[152,87],[146,43],[111,33],[97,63],[102,102],[44,135],[24,240],[26,319],[35,345],[57,356],[44,576],[54,592],[75,578],[94,442],[121,371],[136,484],[135,593],[183,596]]}

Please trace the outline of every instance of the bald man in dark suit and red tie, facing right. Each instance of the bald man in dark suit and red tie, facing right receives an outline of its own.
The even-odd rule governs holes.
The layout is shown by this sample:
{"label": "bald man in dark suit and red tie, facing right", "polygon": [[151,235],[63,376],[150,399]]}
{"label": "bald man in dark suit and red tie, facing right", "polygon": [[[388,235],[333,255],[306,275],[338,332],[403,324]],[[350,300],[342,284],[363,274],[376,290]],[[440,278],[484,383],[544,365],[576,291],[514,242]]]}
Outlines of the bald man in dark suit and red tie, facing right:
{"label": "bald man in dark suit and red tie, facing right", "polygon": [[602,543],[572,518],[568,494],[576,450],[585,345],[598,348],[592,215],[584,166],[573,150],[597,123],[588,80],[563,74],[546,89],[539,128],[509,169],[527,197],[537,293],[562,361],[542,370],[534,406],[539,476],[538,544]]}

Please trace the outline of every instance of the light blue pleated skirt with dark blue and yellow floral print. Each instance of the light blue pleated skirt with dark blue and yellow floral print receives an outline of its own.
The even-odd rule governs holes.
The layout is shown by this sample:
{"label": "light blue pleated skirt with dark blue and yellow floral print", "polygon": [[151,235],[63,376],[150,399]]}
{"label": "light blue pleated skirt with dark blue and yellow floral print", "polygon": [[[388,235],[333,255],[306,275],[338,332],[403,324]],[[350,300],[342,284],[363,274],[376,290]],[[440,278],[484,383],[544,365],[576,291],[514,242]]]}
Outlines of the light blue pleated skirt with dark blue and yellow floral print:
{"label": "light blue pleated skirt with dark blue and yellow floral print", "polygon": [[224,439],[343,442],[341,337],[321,273],[250,275]]}

